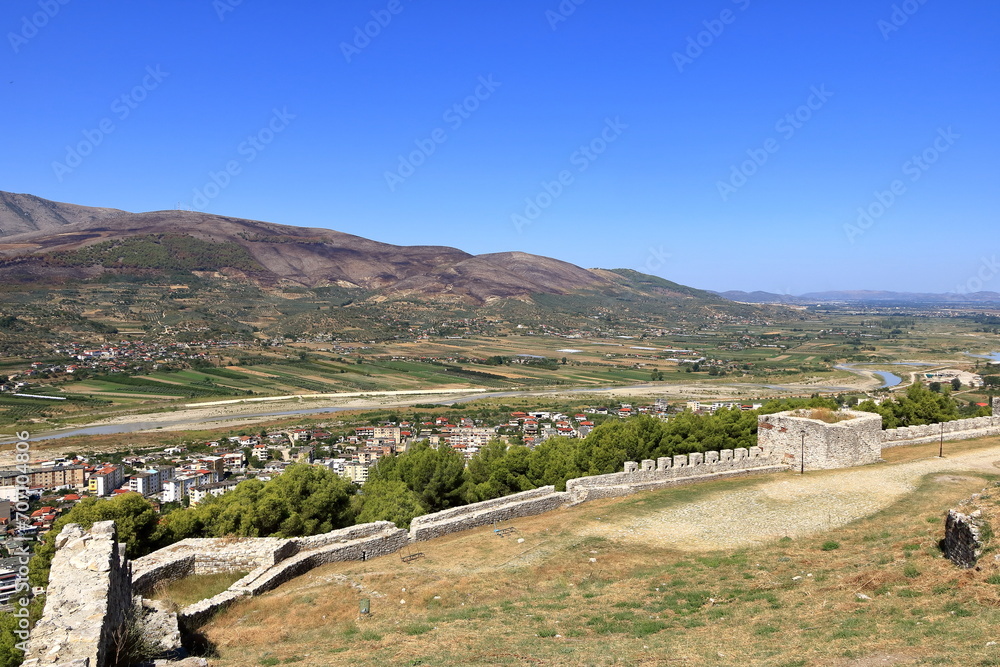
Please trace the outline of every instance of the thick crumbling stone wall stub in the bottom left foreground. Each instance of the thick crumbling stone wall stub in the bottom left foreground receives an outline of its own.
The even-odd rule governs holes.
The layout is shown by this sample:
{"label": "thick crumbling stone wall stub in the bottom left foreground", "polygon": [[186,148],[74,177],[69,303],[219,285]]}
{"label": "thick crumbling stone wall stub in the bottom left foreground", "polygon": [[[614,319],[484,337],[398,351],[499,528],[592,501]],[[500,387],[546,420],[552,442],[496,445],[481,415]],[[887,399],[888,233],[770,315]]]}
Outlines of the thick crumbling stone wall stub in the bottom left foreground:
{"label": "thick crumbling stone wall stub in the bottom left foreground", "polygon": [[25,667],[106,667],[132,607],[132,572],[113,521],[56,537],[45,609],[28,640]]}

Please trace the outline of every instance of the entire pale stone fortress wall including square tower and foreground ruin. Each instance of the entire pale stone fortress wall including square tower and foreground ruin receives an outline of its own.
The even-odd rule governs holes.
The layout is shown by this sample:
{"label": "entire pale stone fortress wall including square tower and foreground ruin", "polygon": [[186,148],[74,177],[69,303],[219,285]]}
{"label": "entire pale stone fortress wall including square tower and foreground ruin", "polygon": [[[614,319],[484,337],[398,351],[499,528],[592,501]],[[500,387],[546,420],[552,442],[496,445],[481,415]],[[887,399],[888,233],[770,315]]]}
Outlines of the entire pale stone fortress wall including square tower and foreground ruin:
{"label": "entire pale stone fortress wall including square tower and foreground ruin", "polygon": [[[993,410],[1000,416],[1000,398],[994,399]],[[762,415],[758,447],[630,461],[620,473],[569,480],[565,492],[542,487],[417,517],[409,531],[381,521],[303,538],[191,539],[129,563],[113,522],[94,524],[90,531],[71,524],[56,540],[45,610],[32,631],[24,664],[105,667],[133,590],[148,595],[157,584],[190,574],[249,571],[227,591],[181,610],[177,620],[187,630],[244,596],[273,590],[320,565],[391,555],[423,540],[589,500],[798,469],[803,447],[805,467],[815,470],[873,463],[882,447],[934,440],[942,431],[946,440],[1000,433],[998,417],[948,422],[943,429],[933,425],[881,431],[878,415],[849,415],[851,419],[836,424],[792,412]]]}

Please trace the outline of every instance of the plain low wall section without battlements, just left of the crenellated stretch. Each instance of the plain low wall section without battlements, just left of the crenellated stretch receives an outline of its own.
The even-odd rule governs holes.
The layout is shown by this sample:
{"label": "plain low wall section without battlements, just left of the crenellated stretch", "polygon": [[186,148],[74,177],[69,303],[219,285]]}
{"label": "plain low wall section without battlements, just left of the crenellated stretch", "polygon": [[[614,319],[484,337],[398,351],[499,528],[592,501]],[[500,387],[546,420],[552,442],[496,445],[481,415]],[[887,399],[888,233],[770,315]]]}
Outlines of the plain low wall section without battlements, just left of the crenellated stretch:
{"label": "plain low wall section without battlements, just left of the crenellated stretch", "polygon": [[421,542],[448,533],[488,526],[494,522],[550,512],[565,505],[568,500],[569,494],[556,493],[554,486],[543,486],[503,498],[425,514],[410,522],[410,541]]}

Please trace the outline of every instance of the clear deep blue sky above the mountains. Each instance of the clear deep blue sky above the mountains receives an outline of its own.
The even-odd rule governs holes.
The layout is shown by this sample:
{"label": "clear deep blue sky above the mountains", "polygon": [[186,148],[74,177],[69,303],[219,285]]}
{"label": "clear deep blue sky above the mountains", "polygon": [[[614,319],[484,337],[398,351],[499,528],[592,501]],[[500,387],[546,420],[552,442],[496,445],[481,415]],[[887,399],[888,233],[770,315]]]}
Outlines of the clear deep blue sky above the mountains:
{"label": "clear deep blue sky above the mountains", "polygon": [[896,7],[10,0],[0,189],[708,289],[1000,291],[1000,5]]}

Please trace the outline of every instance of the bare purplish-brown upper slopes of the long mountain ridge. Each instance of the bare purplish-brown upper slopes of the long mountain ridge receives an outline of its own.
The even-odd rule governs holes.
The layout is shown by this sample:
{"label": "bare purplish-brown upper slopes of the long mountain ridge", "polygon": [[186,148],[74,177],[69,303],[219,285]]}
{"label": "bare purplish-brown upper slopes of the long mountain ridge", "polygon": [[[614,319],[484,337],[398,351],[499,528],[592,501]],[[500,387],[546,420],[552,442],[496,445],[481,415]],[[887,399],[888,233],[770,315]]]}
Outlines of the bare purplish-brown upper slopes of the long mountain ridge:
{"label": "bare purplish-brown upper slopes of the long mountain ridge", "polygon": [[397,246],[323,228],[192,211],[129,213],[0,193],[0,281],[67,284],[106,274],[196,273],[261,287],[326,286],[366,298],[484,305],[533,295],[737,304],[627,270],[584,269],[524,252],[472,255]]}

